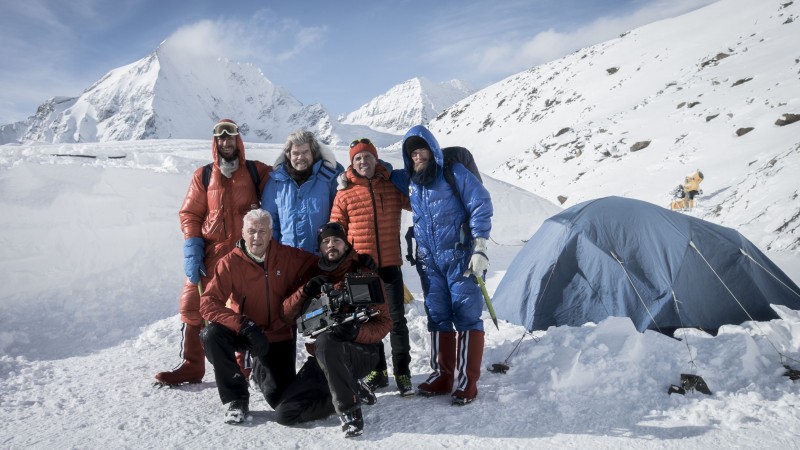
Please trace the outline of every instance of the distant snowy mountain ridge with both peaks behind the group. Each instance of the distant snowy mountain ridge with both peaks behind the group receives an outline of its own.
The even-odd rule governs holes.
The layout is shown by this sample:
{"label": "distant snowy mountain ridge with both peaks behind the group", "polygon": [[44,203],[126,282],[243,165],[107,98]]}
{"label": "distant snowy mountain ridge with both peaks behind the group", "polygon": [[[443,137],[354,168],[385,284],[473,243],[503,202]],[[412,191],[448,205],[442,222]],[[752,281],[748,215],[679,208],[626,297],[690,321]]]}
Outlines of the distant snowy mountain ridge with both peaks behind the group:
{"label": "distant snowy mountain ridge with both peaks behind the group", "polygon": [[205,138],[224,116],[254,142],[282,143],[302,128],[327,144],[369,137],[385,146],[470,93],[458,80],[435,84],[415,78],[340,123],[321,104],[303,105],[251,64],[187,59],[165,41],[147,57],[111,70],[80,96],[51,98],[27,120],[0,127],[0,144]]}

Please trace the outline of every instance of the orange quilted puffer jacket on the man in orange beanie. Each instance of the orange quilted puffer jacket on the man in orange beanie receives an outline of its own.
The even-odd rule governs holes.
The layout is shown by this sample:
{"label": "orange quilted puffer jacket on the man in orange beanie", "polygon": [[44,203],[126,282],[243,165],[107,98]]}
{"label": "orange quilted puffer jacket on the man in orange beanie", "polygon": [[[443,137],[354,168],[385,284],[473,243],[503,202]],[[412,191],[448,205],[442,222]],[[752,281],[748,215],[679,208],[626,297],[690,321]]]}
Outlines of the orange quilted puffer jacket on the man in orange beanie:
{"label": "orange quilted puffer jacket on the man in orange beanie", "polygon": [[381,164],[370,179],[358,175],[352,165],[346,176],[347,187],[333,200],[331,221],[342,224],[353,248],[372,256],[378,267],[402,265],[400,217],[403,209],[410,210],[408,197],[392,184]]}

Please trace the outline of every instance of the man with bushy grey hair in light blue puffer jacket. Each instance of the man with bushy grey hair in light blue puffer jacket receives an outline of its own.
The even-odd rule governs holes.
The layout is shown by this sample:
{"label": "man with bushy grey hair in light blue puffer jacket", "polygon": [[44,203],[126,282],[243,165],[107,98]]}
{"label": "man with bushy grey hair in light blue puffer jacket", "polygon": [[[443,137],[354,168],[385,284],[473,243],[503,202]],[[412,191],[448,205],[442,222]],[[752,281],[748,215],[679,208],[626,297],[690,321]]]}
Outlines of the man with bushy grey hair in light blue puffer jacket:
{"label": "man with bushy grey hair in light blue puffer jacket", "polygon": [[344,167],[310,131],[289,135],[261,194],[261,208],[272,215],[273,239],[317,253],[317,230],[328,223],[336,197],[336,177]]}

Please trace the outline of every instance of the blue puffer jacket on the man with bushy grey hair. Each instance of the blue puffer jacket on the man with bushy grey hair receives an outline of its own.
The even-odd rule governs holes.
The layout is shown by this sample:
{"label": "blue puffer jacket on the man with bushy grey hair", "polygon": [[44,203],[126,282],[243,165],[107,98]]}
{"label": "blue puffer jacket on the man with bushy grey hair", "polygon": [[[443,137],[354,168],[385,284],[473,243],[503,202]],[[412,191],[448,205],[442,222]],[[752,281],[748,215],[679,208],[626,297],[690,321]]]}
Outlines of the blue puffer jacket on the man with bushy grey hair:
{"label": "blue puffer jacket on the man with bushy grey hair", "polygon": [[261,208],[272,215],[272,237],[283,245],[317,253],[317,230],[328,223],[336,197],[336,176],[341,164],[331,169],[324,159],[314,163],[314,171],[298,186],[286,171],[286,164],[275,167],[261,194]]}

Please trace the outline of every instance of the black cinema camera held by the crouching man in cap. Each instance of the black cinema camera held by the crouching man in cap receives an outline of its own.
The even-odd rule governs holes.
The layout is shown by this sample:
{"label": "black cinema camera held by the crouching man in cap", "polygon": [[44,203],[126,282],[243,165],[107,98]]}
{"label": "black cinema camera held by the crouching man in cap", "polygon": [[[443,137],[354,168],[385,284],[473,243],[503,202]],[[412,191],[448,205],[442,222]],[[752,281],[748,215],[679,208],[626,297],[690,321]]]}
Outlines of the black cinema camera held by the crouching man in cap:
{"label": "black cinema camera held by the crouching man in cap", "polygon": [[[384,302],[380,278],[374,274],[348,273],[344,276],[343,290],[326,284],[322,292],[311,299],[297,318],[297,329],[303,336],[316,337],[331,327],[353,320],[366,322],[378,314],[371,307]],[[348,312],[343,311],[346,305],[352,306]]]}

